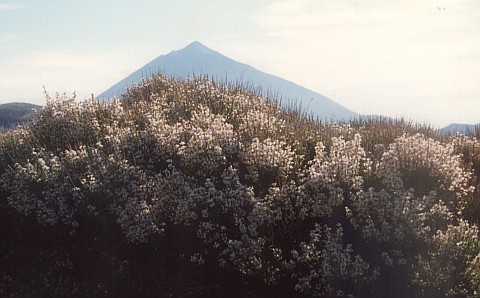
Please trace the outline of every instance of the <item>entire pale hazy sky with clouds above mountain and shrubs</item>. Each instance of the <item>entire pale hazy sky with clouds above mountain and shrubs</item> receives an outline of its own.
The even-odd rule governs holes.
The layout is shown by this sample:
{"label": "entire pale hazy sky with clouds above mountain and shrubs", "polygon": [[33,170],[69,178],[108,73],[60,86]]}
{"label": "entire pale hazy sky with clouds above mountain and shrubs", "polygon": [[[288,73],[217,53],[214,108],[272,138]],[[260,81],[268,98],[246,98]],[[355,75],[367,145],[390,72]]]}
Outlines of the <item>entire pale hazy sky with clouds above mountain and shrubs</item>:
{"label": "entire pale hazy sky with clouds above mountain and shrubs", "polygon": [[0,103],[90,97],[194,40],[358,113],[480,122],[478,0],[0,0]]}

